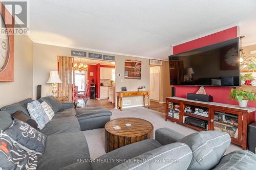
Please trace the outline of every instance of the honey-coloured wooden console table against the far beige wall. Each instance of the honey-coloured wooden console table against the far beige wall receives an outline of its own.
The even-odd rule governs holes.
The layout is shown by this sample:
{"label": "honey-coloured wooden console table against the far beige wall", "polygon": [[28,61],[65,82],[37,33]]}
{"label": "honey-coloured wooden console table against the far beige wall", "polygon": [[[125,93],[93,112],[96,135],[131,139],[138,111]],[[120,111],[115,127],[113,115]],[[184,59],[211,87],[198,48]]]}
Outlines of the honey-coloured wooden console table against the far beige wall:
{"label": "honey-coloured wooden console table against the far beige wall", "polygon": [[[147,105],[150,106],[150,91],[117,91],[117,109],[123,110],[123,98],[131,96],[141,96],[143,95],[143,105],[146,105],[146,96],[147,96]],[[119,102],[120,99],[120,102]]]}

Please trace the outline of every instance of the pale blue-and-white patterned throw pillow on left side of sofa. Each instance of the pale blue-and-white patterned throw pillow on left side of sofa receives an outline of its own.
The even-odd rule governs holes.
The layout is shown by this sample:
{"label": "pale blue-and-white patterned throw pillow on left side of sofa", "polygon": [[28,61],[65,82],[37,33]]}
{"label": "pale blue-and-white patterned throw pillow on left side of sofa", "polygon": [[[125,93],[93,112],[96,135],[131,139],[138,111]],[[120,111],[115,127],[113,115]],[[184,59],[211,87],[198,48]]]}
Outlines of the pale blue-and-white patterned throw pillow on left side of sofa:
{"label": "pale blue-and-white patterned throw pillow on left side of sofa", "polygon": [[33,101],[28,103],[28,111],[31,116],[38,124],[38,128],[42,129],[50,121],[49,117],[46,115],[44,108],[38,101]]}

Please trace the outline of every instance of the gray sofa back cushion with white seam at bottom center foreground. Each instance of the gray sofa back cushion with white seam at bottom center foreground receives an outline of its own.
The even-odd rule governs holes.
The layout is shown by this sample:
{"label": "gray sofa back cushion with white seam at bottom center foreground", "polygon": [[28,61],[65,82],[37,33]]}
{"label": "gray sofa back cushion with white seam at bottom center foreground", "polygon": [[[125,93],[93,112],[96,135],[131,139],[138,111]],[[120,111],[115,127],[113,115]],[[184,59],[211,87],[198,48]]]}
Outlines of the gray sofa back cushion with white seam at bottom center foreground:
{"label": "gray sofa back cushion with white seam at bottom center foreground", "polygon": [[[186,170],[192,159],[192,152],[184,143],[167,144],[142,155],[134,157],[112,170],[125,169],[179,169]],[[127,160],[129,161],[129,160]]]}

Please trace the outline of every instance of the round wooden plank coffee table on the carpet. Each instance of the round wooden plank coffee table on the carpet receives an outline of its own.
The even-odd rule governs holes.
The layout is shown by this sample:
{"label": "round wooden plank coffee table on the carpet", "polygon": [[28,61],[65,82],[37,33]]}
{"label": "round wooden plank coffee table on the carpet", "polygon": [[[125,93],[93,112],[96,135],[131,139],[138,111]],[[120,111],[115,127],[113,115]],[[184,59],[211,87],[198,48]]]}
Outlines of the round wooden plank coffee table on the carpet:
{"label": "round wooden plank coffee table on the carpet", "polygon": [[[115,130],[115,126],[121,129]],[[111,120],[105,124],[105,151],[108,153],[127,144],[152,139],[153,129],[150,122],[141,118],[124,117]]]}

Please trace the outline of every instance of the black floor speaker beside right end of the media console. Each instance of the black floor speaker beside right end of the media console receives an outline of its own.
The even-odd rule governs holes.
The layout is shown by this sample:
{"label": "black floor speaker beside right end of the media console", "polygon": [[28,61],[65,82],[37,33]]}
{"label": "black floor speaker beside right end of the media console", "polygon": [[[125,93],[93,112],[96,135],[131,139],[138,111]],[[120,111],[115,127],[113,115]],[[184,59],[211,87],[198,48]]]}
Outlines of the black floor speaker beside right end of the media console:
{"label": "black floor speaker beside right end of the media console", "polygon": [[248,125],[248,149],[255,154],[256,150],[256,122]]}

